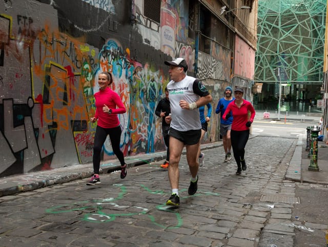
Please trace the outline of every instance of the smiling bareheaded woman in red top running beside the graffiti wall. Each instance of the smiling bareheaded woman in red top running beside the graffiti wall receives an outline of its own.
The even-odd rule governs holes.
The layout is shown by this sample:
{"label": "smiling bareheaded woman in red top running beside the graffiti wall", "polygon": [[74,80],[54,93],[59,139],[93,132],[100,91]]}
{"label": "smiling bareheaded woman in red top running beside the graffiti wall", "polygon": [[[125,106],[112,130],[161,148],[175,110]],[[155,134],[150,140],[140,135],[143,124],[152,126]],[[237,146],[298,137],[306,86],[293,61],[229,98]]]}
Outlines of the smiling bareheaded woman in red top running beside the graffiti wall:
{"label": "smiling bareheaded woman in red top running beside the graffiti wall", "polygon": [[96,113],[90,119],[92,122],[98,120],[92,158],[94,175],[87,182],[87,185],[100,183],[100,152],[107,135],[109,135],[111,140],[113,152],[121,164],[120,177],[125,178],[127,176],[127,164],[124,161],[124,154],[119,148],[122,130],[117,116],[117,114],[125,113],[126,109],[119,95],[109,87],[112,83],[113,77],[111,73],[101,72],[98,75],[99,92],[94,94]]}

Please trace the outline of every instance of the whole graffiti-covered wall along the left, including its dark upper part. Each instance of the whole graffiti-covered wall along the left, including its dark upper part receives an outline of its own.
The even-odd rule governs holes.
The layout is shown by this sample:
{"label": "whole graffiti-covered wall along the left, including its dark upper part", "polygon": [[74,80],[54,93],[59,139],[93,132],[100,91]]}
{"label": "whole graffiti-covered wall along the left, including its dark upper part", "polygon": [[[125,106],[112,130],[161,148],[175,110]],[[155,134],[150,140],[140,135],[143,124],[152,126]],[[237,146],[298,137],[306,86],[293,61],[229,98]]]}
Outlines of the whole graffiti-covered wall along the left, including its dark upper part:
{"label": "whole graffiti-covered wall along the left, including its dark upper part", "polygon": [[[188,1],[162,3],[161,14],[178,28],[151,23],[142,1],[134,2],[0,2],[0,177],[92,161],[96,124],[89,119],[101,71],[112,72],[127,109],[119,115],[124,155],[166,149],[155,108],[169,81],[165,60],[184,57],[193,73],[189,6],[181,3]],[[200,62],[214,69],[203,75],[227,74],[218,61]],[[214,84],[213,111],[222,96]],[[209,130],[204,141],[217,139],[217,128]],[[113,157],[106,140],[104,159]]]}

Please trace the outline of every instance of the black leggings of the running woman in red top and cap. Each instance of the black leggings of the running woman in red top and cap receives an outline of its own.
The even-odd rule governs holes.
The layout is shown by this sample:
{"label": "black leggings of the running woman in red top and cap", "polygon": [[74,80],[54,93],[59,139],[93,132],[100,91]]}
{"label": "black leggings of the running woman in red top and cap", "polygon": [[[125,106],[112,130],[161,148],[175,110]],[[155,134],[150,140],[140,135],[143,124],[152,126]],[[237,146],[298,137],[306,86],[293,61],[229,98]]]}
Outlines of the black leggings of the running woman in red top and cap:
{"label": "black leggings of the running woman in red top and cap", "polygon": [[248,137],[250,136],[250,130],[231,130],[230,136],[231,146],[234,151],[237,167],[240,168],[240,160],[245,158],[245,146],[248,141]]}

